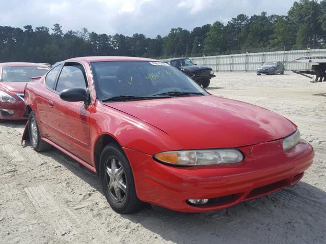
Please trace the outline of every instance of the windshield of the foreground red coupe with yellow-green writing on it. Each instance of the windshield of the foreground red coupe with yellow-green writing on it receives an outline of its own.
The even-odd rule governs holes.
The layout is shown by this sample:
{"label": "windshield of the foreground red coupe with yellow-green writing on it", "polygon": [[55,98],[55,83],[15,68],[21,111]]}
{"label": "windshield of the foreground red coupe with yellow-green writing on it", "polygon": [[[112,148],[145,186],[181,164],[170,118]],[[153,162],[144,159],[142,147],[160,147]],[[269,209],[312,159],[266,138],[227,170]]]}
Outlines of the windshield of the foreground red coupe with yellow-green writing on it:
{"label": "windshield of the foreground red coupe with yellow-green writing on it", "polygon": [[92,62],[91,67],[100,101],[130,96],[150,99],[207,95],[192,79],[163,62]]}

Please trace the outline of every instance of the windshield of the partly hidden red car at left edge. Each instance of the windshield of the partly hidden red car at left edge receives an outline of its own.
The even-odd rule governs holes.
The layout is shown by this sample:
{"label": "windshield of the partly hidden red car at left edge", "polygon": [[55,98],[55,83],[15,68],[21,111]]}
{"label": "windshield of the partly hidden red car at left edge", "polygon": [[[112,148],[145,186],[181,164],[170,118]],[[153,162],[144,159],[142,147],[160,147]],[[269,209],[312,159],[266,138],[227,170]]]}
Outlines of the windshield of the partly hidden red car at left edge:
{"label": "windshield of the partly hidden red car at left edge", "polygon": [[31,81],[31,77],[43,76],[49,69],[45,67],[11,66],[2,70],[2,81]]}

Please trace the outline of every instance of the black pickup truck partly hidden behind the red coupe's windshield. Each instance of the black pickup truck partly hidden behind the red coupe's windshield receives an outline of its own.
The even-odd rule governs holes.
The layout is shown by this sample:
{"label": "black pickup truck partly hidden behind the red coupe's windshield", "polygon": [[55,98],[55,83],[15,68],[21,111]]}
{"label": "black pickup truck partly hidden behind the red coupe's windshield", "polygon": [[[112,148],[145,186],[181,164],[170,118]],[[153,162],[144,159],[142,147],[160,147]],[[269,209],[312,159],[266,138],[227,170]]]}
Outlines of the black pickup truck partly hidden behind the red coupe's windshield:
{"label": "black pickup truck partly hidden behind the red coupe's windshield", "polygon": [[212,68],[196,65],[192,62],[191,59],[186,57],[162,59],[161,61],[178,68],[180,71],[182,71],[184,74],[192,78],[203,87],[208,87],[210,79],[215,77]]}

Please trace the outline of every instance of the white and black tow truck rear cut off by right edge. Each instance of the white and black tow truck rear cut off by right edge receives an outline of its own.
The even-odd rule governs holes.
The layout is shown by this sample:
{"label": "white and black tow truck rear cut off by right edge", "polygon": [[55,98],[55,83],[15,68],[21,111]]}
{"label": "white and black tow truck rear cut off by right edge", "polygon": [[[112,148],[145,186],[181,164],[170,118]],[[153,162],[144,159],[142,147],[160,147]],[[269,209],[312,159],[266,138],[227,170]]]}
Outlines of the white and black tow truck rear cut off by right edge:
{"label": "white and black tow truck rear cut off by right edge", "polygon": [[292,70],[293,73],[312,79],[312,83],[326,81],[326,56],[304,56],[294,59],[294,62],[313,65],[310,70]]}

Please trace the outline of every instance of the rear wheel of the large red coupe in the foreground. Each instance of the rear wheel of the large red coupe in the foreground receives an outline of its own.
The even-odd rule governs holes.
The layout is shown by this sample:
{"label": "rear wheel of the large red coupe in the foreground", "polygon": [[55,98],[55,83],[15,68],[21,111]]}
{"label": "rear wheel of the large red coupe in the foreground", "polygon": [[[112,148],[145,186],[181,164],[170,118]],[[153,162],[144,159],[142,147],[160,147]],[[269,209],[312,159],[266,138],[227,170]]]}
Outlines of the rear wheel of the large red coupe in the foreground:
{"label": "rear wheel of the large red coupe in the foreground", "polygon": [[[34,134],[33,134],[34,133]],[[31,145],[36,151],[46,151],[51,148],[51,145],[41,139],[40,130],[37,124],[37,119],[32,111],[29,116],[29,135]]]}

